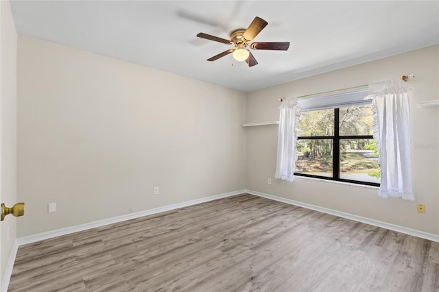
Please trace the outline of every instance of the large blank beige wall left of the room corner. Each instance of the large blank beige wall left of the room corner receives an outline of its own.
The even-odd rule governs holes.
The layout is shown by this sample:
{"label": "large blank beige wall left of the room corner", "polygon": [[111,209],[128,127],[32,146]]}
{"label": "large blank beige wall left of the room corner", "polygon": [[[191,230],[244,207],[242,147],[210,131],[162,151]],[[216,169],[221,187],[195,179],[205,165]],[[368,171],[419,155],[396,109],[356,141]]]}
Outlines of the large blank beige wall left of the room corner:
{"label": "large blank beige wall left of the room corner", "polygon": [[18,236],[244,189],[245,116],[245,93],[19,36]]}

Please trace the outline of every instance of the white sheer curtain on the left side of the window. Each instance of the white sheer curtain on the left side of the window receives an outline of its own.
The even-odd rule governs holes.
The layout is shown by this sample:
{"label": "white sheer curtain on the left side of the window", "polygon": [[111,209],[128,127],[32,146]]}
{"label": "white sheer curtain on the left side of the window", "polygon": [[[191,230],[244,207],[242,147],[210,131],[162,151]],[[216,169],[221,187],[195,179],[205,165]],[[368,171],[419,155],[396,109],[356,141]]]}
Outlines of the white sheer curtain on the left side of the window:
{"label": "white sheer curtain on the left side of the window", "polygon": [[277,141],[276,173],[274,178],[281,180],[294,180],[294,169],[296,169],[296,123],[299,109],[294,99],[285,99],[281,106],[279,117],[279,134]]}

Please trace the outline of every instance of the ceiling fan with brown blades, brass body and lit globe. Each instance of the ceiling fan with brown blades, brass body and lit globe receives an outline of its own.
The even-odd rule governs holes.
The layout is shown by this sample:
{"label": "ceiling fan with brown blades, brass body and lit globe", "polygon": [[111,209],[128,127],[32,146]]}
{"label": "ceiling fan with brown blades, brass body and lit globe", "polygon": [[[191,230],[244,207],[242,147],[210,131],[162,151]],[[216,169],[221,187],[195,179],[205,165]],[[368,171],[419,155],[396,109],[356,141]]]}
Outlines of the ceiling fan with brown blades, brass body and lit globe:
{"label": "ceiling fan with brown blades, brass body and lit globe", "polygon": [[246,49],[246,47],[250,47],[250,49],[266,49],[276,51],[287,51],[289,47],[289,42],[252,42],[250,44],[252,39],[255,38],[267,25],[267,21],[264,21],[260,17],[256,16],[247,29],[240,28],[230,32],[230,40],[218,38],[217,36],[211,36],[210,34],[204,34],[202,32],[197,34],[197,36],[199,38],[206,38],[206,40],[213,40],[215,42],[222,42],[223,44],[235,46],[235,49],[223,51],[222,53],[207,59],[208,61],[215,61],[228,55],[229,53],[233,53],[232,56],[235,60],[238,62],[247,61],[247,65],[251,67],[258,64],[258,62],[252,53]]}

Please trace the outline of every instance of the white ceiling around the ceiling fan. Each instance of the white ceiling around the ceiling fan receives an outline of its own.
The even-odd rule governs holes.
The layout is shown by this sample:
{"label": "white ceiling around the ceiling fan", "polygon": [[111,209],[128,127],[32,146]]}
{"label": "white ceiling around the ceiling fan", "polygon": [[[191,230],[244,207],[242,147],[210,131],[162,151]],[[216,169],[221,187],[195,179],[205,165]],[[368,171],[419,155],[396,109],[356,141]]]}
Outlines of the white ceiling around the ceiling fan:
{"label": "white ceiling around the ceiling fan", "polygon": [[[248,92],[439,43],[439,1],[10,1],[19,34]],[[289,41],[288,51],[252,51],[249,68],[230,39],[259,16],[254,42]]]}

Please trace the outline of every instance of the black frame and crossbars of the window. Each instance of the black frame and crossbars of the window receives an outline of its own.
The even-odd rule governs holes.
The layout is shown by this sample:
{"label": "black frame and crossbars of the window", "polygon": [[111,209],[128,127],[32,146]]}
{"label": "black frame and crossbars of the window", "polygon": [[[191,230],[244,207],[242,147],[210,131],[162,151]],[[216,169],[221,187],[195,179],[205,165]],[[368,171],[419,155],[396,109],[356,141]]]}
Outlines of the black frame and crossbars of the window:
{"label": "black frame and crossbars of the window", "polygon": [[[340,140],[344,139],[373,139],[372,135],[353,135],[353,136],[340,136],[340,108],[334,108],[334,135],[333,136],[298,136],[297,140],[318,140],[326,139],[333,141],[333,173],[332,178],[324,175],[313,175],[307,173],[296,173],[294,175],[303,176],[308,178],[319,178],[322,180],[333,180],[336,182],[348,182],[351,184],[361,184],[367,186],[380,186],[377,182],[365,182],[361,180],[346,180],[340,178]],[[337,149],[337,151],[335,151]]]}

